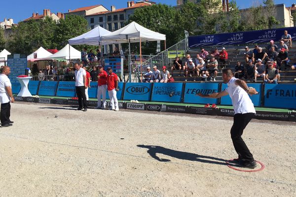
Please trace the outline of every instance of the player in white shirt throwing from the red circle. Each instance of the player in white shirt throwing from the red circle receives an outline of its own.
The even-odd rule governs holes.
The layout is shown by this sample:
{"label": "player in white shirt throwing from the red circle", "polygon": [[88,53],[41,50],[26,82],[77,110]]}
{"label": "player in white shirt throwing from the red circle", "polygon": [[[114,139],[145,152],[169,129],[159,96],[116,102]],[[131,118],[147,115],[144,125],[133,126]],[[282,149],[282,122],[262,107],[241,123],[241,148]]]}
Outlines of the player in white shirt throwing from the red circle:
{"label": "player in white shirt throwing from the red circle", "polygon": [[223,83],[228,85],[228,88],[224,91],[211,95],[203,95],[201,93],[197,95],[206,98],[221,98],[229,95],[234,109],[233,126],[230,134],[234,149],[238,154],[238,159],[234,159],[234,162],[237,162],[242,167],[255,168],[257,166],[256,161],[241,135],[256,113],[254,104],[248,94],[256,95],[258,92],[254,88],[248,88],[245,81],[233,77],[233,72],[230,68],[222,70],[222,78]]}

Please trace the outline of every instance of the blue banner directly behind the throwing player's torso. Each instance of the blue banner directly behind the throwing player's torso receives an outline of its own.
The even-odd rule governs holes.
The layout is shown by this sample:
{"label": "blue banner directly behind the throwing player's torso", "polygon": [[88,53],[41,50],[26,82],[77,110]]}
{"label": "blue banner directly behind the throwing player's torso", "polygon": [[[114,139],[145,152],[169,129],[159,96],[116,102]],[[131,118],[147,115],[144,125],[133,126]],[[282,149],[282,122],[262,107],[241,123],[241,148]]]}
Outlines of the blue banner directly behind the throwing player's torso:
{"label": "blue banner directly behind the throwing player's torso", "polygon": [[[258,83],[248,83],[248,87],[253,87],[257,90],[257,92],[259,92],[258,95],[253,95],[250,96],[250,99],[252,100],[253,104],[255,107],[260,107],[261,106],[261,87],[262,84],[258,84]],[[227,88],[227,84],[223,83],[222,84],[222,91],[224,91]],[[232,105],[231,99],[229,96],[224,96],[221,98],[221,105]]]}

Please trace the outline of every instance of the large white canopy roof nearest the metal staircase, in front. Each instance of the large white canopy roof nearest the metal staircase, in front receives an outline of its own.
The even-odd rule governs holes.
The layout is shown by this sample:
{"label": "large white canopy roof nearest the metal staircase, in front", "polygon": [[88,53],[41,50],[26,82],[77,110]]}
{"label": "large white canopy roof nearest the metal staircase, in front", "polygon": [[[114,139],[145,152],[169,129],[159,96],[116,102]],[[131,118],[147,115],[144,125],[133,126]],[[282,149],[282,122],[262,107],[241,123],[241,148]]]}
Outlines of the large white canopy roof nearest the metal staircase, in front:
{"label": "large white canopy roof nearest the metal staircase, in front", "polygon": [[[128,40],[126,39],[128,37]],[[153,32],[139,25],[136,22],[131,22],[127,26],[102,36],[104,42],[109,43],[126,43],[126,42],[142,42],[165,40],[165,34]]]}

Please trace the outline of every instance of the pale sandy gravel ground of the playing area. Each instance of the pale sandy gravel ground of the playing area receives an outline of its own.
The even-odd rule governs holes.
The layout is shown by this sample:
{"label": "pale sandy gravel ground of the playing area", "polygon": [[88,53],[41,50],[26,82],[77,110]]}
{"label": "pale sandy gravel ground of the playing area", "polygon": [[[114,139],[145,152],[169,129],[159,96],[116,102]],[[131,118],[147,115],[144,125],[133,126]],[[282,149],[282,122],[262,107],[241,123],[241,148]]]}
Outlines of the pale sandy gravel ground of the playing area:
{"label": "pale sandy gravel ground of the playing area", "polygon": [[[55,118],[55,116],[58,116]],[[295,197],[296,124],[252,121],[236,158],[231,118],[13,103],[0,128],[1,197]]]}

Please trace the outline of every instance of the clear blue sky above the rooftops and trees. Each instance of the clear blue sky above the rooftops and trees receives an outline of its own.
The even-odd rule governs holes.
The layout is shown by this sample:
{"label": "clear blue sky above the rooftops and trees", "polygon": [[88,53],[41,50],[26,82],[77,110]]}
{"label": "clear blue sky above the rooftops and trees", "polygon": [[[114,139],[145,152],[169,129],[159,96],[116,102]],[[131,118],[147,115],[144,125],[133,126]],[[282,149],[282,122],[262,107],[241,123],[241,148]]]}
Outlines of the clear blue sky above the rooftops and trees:
{"label": "clear blue sky above the rooftops and trees", "polygon": [[[111,5],[115,5],[117,8],[127,7],[128,0],[14,0],[13,5],[9,5],[9,1],[4,1],[0,6],[0,22],[4,21],[4,18],[12,18],[14,23],[23,21],[26,18],[32,16],[33,12],[43,14],[43,9],[50,9],[51,12],[68,12],[68,9],[76,9],[79,7],[85,7],[90,5],[102,4],[110,10]],[[135,0],[137,1],[137,0]],[[176,5],[176,0],[152,0],[156,3]],[[229,0],[230,1],[230,0]],[[7,5],[5,6],[5,2]],[[254,4],[254,2],[262,2],[262,0],[236,0],[240,9],[248,8]],[[286,6],[291,6],[292,3],[296,3],[296,0],[274,0],[275,4],[281,4],[285,2]]]}

